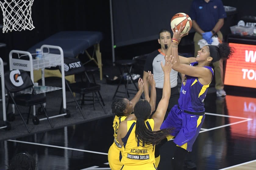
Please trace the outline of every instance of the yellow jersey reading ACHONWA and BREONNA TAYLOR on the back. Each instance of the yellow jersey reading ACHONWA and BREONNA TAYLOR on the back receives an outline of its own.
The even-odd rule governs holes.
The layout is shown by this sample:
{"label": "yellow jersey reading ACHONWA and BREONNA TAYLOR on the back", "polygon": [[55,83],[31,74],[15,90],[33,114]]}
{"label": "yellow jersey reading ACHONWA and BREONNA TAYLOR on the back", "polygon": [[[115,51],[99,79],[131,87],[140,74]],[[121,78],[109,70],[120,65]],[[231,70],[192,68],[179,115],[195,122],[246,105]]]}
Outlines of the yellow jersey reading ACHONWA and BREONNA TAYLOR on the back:
{"label": "yellow jersey reading ACHONWA and BREONNA TAYLOR on the back", "polygon": [[[154,120],[147,119],[145,125],[149,130],[154,129]],[[141,144],[135,137],[136,121],[127,121],[127,134],[123,141],[122,165],[143,165],[155,163],[155,145]],[[141,146],[142,145],[142,146]]]}

